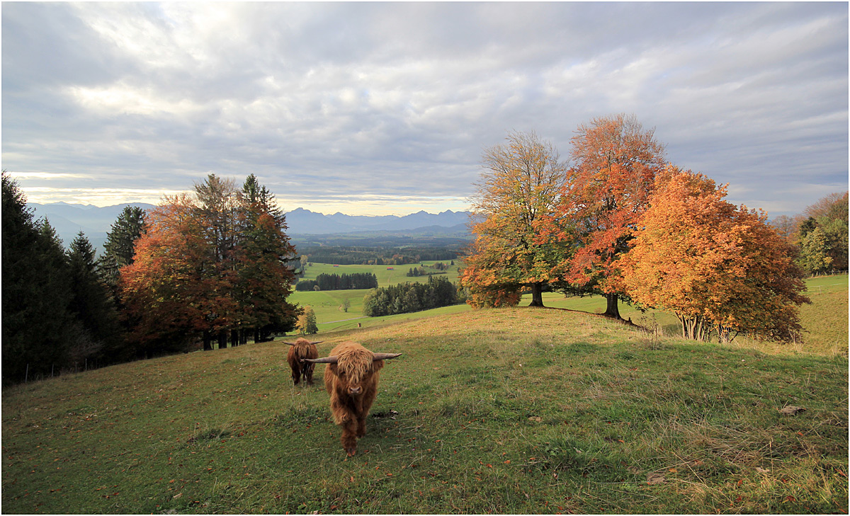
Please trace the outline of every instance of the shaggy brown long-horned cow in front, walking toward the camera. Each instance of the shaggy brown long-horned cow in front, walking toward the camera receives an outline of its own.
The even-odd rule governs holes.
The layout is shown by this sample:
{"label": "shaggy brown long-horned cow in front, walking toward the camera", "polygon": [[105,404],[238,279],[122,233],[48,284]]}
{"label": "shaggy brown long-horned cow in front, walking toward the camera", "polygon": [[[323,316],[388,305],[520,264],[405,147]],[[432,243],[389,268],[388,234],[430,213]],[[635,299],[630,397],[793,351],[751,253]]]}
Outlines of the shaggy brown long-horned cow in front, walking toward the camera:
{"label": "shaggy brown long-horned cow in front, walking toward the camera", "polygon": [[377,395],[377,372],[383,361],[397,356],[401,353],[372,353],[356,342],[343,342],[331,356],[307,361],[327,364],[325,388],[331,395],[333,421],[343,427],[348,457],[357,452],[357,438],[366,433],[366,416]]}

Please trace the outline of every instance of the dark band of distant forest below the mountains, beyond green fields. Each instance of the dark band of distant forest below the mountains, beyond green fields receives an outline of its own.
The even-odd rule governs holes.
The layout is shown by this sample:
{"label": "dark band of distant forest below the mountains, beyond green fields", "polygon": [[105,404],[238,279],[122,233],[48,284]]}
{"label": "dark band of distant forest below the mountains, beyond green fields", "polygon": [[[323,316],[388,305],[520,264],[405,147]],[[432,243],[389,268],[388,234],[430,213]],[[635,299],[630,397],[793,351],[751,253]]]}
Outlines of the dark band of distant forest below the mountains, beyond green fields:
{"label": "dark band of distant forest below the mountains, beyond green fields", "polygon": [[455,260],[462,253],[460,246],[450,247],[305,247],[298,248],[314,263],[337,265],[405,265],[426,260]]}

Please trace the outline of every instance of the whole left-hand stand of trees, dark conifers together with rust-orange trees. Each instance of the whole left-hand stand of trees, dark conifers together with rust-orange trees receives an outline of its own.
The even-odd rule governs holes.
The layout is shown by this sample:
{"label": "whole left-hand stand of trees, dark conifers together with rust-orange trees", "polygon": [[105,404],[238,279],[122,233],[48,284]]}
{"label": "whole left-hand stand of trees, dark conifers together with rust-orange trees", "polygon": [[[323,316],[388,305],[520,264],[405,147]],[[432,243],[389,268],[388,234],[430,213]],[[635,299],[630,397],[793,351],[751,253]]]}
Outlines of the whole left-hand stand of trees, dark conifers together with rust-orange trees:
{"label": "whole left-hand stand of trees, dark conifers together with rust-orange trees", "polygon": [[294,253],[253,175],[127,207],[95,261],[82,233],[63,250],[3,171],[3,383],[291,330]]}

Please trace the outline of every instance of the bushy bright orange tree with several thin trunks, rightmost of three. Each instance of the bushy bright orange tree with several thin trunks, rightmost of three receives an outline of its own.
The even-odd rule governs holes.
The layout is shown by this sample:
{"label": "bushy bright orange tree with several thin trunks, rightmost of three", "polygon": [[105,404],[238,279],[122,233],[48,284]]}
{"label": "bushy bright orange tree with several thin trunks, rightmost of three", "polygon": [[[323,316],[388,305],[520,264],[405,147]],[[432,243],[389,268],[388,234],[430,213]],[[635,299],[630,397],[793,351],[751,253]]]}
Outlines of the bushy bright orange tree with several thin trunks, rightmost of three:
{"label": "bushy bright orange tree with several thin trunks, rightmost of three", "polygon": [[797,308],[808,298],[791,244],[763,211],[725,196],[725,186],[667,165],[618,260],[620,288],[641,306],[674,313],[685,338],[798,339]]}

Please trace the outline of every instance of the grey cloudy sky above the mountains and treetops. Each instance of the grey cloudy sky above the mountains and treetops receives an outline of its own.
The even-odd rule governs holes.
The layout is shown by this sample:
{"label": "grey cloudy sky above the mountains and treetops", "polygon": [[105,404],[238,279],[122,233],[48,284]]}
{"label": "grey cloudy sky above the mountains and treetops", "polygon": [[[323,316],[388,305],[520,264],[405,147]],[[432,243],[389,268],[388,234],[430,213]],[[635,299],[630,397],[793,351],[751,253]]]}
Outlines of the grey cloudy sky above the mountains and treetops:
{"label": "grey cloudy sky above the mountains and treetops", "polygon": [[847,3],[3,3],[3,168],[31,202],[249,173],[297,207],[467,209],[482,151],[636,115],[728,199],[847,190]]}

